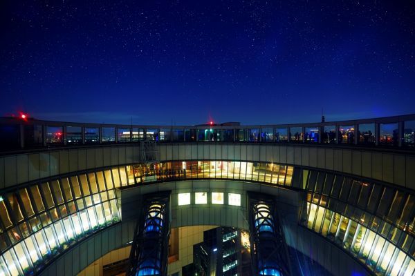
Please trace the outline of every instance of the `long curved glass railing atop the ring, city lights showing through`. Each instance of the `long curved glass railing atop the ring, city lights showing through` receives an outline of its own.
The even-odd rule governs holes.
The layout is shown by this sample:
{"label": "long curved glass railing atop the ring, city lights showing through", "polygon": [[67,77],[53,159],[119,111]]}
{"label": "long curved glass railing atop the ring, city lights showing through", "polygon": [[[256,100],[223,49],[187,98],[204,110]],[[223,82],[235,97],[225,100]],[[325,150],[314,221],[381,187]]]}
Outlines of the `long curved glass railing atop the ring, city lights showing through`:
{"label": "long curved glass railing atop the ring, city lights showing through", "polygon": [[0,150],[158,142],[248,142],[415,147],[415,115],[311,124],[135,126],[0,117]]}

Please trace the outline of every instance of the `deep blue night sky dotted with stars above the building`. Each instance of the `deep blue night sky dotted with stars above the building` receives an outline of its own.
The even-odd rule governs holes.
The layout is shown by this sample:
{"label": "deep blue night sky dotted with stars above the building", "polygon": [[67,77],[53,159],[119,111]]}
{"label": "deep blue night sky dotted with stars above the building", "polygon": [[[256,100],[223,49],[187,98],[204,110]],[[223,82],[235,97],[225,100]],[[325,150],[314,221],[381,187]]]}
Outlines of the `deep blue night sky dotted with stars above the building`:
{"label": "deep blue night sky dotted with stars above the building", "polygon": [[415,113],[412,0],[6,0],[0,33],[0,116],[183,125]]}

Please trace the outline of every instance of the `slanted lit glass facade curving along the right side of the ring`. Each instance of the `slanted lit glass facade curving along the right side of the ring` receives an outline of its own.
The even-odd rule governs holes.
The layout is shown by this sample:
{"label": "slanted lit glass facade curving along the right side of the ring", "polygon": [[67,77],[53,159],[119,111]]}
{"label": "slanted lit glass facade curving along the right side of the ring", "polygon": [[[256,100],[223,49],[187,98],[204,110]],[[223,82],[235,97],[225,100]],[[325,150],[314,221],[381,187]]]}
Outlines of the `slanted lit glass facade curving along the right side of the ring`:
{"label": "slanted lit glass facade curving along the right side of the ring", "polygon": [[412,275],[414,195],[315,170],[296,170],[295,179],[308,190],[300,224],[347,250],[376,275]]}

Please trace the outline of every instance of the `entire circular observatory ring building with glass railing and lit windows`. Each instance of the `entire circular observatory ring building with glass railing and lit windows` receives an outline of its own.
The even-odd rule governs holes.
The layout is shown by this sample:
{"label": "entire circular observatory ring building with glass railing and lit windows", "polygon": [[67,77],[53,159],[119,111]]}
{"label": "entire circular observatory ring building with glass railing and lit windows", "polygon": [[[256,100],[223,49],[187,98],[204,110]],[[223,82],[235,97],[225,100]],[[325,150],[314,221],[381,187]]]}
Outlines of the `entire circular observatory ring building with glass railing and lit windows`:
{"label": "entire circular observatory ring building with glass railing and lit windows", "polygon": [[[137,206],[165,192],[171,228],[279,227],[333,275],[413,275],[414,132],[415,115],[273,126],[0,118],[0,275],[76,275],[131,244]],[[252,193],[276,215],[257,204],[251,216]]]}

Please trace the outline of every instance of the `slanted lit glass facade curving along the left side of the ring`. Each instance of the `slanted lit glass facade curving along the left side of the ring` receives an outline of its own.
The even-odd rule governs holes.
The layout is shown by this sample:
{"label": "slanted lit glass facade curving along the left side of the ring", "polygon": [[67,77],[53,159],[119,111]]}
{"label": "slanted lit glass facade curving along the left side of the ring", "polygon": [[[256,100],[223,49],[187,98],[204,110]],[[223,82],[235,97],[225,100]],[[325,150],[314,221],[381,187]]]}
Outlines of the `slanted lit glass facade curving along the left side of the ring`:
{"label": "slanted lit glass facade curving along the left side of the ring", "polygon": [[0,275],[34,273],[68,246],[120,221],[113,179],[103,175],[64,177],[0,195]]}

